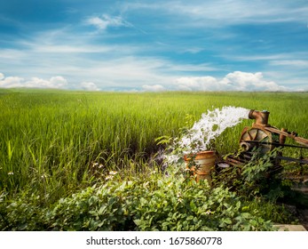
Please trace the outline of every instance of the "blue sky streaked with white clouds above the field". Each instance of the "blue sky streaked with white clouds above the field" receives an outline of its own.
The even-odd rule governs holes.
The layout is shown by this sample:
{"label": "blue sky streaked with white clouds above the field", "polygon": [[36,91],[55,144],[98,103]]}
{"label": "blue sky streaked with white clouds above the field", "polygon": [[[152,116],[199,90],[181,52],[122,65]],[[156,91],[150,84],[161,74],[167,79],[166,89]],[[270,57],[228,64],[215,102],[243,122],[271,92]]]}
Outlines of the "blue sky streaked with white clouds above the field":
{"label": "blue sky streaked with white clouds above the field", "polygon": [[308,0],[0,0],[0,87],[308,91]]}

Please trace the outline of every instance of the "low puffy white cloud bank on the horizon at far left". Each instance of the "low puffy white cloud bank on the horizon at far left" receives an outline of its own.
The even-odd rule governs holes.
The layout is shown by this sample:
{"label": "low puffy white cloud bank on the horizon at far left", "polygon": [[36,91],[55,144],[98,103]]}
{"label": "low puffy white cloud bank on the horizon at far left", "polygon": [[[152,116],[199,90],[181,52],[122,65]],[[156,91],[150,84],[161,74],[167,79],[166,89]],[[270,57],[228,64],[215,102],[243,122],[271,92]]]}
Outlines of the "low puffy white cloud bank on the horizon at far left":
{"label": "low puffy white cloud bank on the horizon at far left", "polygon": [[0,87],[12,88],[12,87],[29,87],[29,88],[63,88],[67,85],[67,79],[62,76],[53,76],[49,80],[45,80],[39,77],[32,77],[29,80],[25,80],[19,76],[8,76],[0,73]]}

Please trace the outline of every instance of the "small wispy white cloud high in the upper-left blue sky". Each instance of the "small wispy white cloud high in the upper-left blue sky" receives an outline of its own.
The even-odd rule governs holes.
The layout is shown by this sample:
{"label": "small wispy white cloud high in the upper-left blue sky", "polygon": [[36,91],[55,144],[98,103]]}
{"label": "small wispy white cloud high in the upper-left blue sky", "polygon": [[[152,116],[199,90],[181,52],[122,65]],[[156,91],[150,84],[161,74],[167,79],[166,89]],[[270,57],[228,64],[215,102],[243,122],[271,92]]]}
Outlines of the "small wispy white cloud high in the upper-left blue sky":
{"label": "small wispy white cloud high in the upper-left blue sky", "polygon": [[108,27],[130,27],[130,23],[126,20],[123,20],[122,17],[111,17],[107,14],[104,14],[101,17],[96,16],[88,18],[87,20],[85,20],[85,23],[88,25],[92,25],[100,30],[105,30]]}

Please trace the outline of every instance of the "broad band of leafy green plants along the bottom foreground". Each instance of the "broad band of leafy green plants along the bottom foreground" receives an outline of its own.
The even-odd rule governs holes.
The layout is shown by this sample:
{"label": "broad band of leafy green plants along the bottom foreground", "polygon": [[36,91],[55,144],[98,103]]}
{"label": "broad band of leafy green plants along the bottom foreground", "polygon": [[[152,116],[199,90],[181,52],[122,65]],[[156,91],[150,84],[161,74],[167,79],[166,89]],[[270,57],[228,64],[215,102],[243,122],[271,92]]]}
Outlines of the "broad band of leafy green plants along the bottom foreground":
{"label": "broad band of leafy green plants along the bottom foreground", "polygon": [[[207,181],[157,173],[107,181],[41,208],[39,197],[0,204],[2,230],[271,230],[259,213],[242,212],[241,197]],[[25,215],[27,213],[27,215]]]}

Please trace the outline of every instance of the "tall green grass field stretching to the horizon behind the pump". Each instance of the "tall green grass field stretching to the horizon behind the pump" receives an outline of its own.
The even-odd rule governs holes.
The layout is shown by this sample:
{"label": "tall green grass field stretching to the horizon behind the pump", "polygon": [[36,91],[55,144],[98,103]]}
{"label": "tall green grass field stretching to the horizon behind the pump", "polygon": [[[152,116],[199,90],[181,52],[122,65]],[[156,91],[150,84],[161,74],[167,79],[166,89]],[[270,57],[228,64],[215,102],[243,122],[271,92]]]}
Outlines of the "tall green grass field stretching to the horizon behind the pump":
{"label": "tall green grass field stretching to the horizon behind the pump", "polygon": [[[98,173],[142,171],[155,138],[177,136],[207,109],[267,109],[270,124],[308,137],[308,93],[61,92],[0,90],[0,190],[33,189],[57,199],[97,181]],[[216,141],[220,154],[237,149],[245,120]],[[128,171],[128,172],[129,172]]]}

